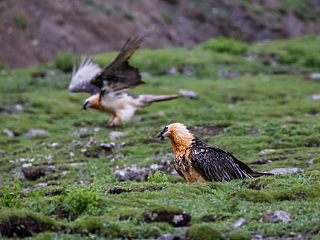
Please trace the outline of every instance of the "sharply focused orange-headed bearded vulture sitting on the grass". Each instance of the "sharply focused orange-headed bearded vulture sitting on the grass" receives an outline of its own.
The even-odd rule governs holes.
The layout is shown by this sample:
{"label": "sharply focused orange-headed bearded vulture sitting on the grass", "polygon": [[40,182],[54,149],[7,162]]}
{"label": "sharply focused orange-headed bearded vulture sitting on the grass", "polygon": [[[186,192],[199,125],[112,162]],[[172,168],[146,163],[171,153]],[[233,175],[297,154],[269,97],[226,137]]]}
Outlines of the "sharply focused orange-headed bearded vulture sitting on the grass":
{"label": "sharply focused orange-headed bearded vulture sitting on the grass", "polygon": [[158,138],[169,137],[177,173],[187,182],[230,181],[273,175],[252,170],[232,154],[201,142],[182,123],[167,125]]}

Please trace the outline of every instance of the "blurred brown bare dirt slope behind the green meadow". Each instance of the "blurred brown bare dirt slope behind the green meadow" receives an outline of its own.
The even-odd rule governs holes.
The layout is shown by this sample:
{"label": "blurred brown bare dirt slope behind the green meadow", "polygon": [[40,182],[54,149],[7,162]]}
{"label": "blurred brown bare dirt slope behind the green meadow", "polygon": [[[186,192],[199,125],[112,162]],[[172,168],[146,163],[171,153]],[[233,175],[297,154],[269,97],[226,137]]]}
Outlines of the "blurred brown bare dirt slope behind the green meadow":
{"label": "blurred brown bare dirt slope behind the green meadow", "polygon": [[[118,50],[146,35],[143,47],[195,45],[230,36],[254,41],[320,33],[317,0],[5,0],[0,1],[0,62],[25,67],[60,51]],[[305,8],[305,9],[304,9]]]}

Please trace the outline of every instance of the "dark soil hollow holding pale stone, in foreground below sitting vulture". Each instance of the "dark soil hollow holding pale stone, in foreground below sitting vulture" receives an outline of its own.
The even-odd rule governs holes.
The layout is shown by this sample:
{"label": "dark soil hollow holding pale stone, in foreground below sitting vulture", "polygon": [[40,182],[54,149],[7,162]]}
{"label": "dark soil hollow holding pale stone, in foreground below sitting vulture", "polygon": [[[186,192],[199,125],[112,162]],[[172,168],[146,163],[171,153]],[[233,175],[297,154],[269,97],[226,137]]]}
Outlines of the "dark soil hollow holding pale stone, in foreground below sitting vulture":
{"label": "dark soil hollow holding pale stone, in foreground below sitting vulture", "polygon": [[[157,216],[155,218],[155,216]],[[144,216],[145,222],[167,222],[175,227],[188,226],[191,221],[191,215],[188,213],[171,213],[167,210],[147,211]]]}

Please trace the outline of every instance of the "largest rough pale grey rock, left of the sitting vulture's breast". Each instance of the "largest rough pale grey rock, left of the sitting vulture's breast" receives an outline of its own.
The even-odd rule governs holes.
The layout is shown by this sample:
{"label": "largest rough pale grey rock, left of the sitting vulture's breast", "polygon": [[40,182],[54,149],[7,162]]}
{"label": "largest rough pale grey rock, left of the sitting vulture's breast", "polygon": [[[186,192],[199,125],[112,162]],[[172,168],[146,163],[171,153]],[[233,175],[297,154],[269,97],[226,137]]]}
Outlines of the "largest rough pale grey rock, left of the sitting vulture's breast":
{"label": "largest rough pale grey rock, left of the sitting vulture's breast", "polygon": [[116,166],[114,170],[114,176],[119,181],[133,181],[133,180],[147,180],[149,175],[149,167],[139,167],[138,165],[132,165],[131,167],[125,167],[124,169],[119,169],[119,166]]}

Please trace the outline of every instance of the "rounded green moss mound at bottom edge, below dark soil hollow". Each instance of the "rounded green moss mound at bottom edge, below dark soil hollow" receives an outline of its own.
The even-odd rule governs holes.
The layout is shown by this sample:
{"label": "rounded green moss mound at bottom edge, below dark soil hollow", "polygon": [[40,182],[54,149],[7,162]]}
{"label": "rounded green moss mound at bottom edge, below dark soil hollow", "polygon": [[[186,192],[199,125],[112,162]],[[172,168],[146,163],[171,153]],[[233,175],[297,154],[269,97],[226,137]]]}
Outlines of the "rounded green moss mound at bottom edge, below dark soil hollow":
{"label": "rounded green moss mound at bottom edge, below dark soil hollow", "polygon": [[214,240],[220,238],[221,232],[208,225],[193,224],[186,231],[187,240]]}

